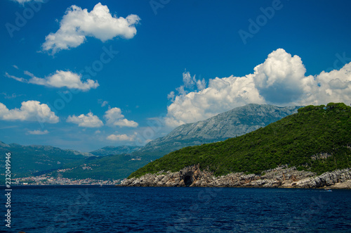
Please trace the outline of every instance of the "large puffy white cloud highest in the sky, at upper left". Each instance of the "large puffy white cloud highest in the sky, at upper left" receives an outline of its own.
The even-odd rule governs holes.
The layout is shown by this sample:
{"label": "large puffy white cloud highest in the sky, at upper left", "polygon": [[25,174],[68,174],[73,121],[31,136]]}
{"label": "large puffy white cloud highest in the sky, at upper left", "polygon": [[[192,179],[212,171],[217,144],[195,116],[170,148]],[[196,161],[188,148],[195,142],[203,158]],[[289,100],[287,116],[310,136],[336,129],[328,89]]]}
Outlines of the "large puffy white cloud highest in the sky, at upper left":
{"label": "large puffy white cloud highest in the sky, at upper left", "polygon": [[126,18],[112,16],[109,8],[100,3],[91,12],[73,5],[63,15],[60,29],[46,36],[42,48],[54,54],[62,49],[79,46],[86,37],[95,37],[102,42],[114,37],[131,39],[136,34],[135,25],[139,20],[138,15],[128,15]]}

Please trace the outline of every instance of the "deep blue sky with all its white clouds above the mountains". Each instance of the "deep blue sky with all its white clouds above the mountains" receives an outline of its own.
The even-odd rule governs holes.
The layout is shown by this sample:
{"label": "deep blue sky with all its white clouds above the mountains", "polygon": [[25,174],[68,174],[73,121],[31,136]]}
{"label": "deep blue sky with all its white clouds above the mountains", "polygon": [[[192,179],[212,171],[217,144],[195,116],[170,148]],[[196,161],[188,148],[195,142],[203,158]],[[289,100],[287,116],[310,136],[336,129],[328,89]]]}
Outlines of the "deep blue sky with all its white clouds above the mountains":
{"label": "deep blue sky with all its white clouds above the mountains", "polygon": [[2,0],[0,141],[143,146],[248,103],[351,103],[351,1]]}

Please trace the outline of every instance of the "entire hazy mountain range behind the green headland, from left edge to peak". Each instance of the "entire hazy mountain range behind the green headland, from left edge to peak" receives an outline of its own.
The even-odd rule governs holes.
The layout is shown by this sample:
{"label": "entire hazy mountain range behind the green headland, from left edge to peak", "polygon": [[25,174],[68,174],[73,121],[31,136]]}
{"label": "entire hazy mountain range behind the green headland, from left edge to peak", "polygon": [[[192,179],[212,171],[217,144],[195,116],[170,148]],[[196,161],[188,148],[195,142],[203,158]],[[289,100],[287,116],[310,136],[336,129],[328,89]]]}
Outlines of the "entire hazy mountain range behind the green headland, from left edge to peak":
{"label": "entire hazy mountain range behind the green headland, from left edge to peak", "polygon": [[[300,107],[249,104],[220,113],[207,120],[180,125],[165,137],[154,139],[143,147],[106,146],[90,153],[81,153],[53,146],[0,143],[0,153],[11,151],[13,173],[18,176],[48,172],[57,175],[58,173],[54,170],[70,168],[60,175],[76,179],[87,177],[100,180],[122,179],[171,151],[239,137],[296,113]],[[1,158],[1,160],[4,159]],[[86,166],[91,169],[83,169]]]}

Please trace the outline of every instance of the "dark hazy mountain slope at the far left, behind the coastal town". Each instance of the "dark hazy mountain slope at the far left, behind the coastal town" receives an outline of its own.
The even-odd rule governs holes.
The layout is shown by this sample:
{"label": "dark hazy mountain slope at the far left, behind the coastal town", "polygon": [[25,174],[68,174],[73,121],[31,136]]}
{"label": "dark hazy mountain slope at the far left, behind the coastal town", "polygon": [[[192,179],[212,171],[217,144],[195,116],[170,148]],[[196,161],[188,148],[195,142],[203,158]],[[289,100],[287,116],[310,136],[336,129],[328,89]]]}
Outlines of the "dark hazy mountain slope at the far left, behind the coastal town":
{"label": "dark hazy mountain slope at the far left, behind the coastal town", "polygon": [[[60,149],[53,146],[22,146],[5,144],[0,141],[0,154],[11,153],[11,172],[13,175],[25,176],[45,170],[55,170],[68,163],[84,161],[93,156],[74,150]],[[5,156],[0,157],[0,168],[5,167]]]}

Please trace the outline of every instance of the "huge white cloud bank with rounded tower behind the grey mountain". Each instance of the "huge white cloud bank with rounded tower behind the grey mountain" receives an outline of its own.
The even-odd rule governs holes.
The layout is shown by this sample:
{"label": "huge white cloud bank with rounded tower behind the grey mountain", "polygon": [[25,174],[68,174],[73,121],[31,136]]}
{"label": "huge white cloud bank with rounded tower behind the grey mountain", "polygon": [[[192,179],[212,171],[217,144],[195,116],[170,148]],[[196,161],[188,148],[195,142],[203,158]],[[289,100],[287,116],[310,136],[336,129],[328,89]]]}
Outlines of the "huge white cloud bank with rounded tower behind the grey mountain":
{"label": "huge white cloud bank with rounded tower behind the grey mountain", "polygon": [[[178,94],[168,99],[166,125],[176,127],[188,122],[210,118],[247,103],[271,103],[277,106],[351,102],[351,63],[340,70],[305,76],[305,65],[297,55],[284,49],[270,53],[264,63],[244,77],[209,80],[208,85],[183,73],[184,84]],[[189,92],[187,87],[197,89]]]}

